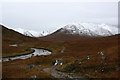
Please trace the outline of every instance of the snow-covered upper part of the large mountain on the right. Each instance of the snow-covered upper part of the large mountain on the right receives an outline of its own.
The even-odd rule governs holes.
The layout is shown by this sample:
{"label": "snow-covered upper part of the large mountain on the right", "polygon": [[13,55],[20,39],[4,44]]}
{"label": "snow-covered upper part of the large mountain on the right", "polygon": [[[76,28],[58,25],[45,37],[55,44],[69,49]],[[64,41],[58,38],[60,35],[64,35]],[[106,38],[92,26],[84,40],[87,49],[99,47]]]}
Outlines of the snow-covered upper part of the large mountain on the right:
{"label": "snow-covered upper part of the large mountain on the right", "polygon": [[118,28],[106,24],[93,24],[93,23],[73,23],[64,26],[59,32],[66,34],[79,34],[88,36],[110,36],[118,34]]}

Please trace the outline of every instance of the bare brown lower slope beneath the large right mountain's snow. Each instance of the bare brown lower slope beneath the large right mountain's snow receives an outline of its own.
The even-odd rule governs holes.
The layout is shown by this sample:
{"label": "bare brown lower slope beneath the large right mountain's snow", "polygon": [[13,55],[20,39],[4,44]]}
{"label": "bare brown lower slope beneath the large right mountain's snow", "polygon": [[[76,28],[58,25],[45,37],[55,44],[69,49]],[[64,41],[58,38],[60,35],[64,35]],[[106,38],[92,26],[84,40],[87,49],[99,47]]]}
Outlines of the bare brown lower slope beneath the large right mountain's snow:
{"label": "bare brown lower slope beneath the large right mountain's snow", "polygon": [[[40,40],[46,41],[74,41],[74,40],[85,40],[85,39],[94,39],[97,37],[88,36],[88,35],[79,35],[79,34],[68,34],[69,31],[65,30],[61,32],[61,29],[57,30],[56,32],[40,37]],[[100,36],[99,36],[100,37]]]}

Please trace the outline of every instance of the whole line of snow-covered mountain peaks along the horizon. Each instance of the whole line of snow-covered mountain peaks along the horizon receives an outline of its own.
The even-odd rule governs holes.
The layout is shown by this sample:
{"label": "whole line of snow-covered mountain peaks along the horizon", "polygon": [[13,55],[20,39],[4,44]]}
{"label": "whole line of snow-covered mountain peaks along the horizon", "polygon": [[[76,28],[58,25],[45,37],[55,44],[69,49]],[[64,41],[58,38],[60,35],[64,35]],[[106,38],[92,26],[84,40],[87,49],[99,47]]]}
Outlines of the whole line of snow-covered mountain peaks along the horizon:
{"label": "whole line of snow-covered mountain peaks along the horizon", "polygon": [[[30,37],[42,37],[46,35],[50,35],[52,33],[65,33],[65,34],[72,34],[72,35],[80,35],[80,36],[110,36],[118,34],[118,28],[116,26],[107,25],[107,24],[94,24],[94,23],[72,23],[65,25],[59,28],[57,31],[50,30],[50,31],[33,31],[33,30],[25,30],[21,28],[13,29],[19,33],[24,34],[25,36]],[[55,31],[55,32],[53,32]]]}

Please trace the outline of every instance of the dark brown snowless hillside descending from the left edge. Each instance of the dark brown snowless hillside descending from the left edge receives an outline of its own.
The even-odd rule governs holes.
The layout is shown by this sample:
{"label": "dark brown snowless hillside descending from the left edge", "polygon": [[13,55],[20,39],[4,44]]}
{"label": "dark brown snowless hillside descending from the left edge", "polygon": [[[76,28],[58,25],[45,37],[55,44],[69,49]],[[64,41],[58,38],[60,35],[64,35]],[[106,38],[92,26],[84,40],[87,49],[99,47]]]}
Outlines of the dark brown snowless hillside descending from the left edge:
{"label": "dark brown snowless hillside descending from the left edge", "polygon": [[5,43],[12,42],[12,43],[23,43],[23,42],[33,42],[36,41],[36,38],[31,38],[28,36],[24,36],[12,29],[8,29],[2,26],[2,41]]}

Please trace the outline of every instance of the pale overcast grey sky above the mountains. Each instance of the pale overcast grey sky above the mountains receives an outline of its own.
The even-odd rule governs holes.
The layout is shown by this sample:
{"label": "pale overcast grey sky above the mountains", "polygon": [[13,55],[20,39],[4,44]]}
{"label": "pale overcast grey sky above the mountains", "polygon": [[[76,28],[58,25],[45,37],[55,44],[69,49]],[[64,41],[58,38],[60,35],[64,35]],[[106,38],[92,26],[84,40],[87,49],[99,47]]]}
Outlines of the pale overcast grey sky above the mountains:
{"label": "pale overcast grey sky above the mountains", "polygon": [[2,24],[35,31],[53,30],[73,22],[117,25],[117,2],[5,2]]}

